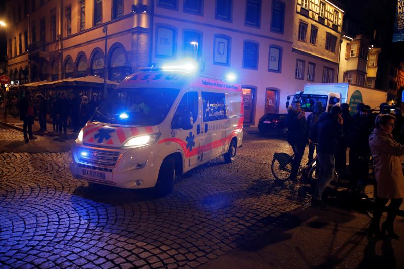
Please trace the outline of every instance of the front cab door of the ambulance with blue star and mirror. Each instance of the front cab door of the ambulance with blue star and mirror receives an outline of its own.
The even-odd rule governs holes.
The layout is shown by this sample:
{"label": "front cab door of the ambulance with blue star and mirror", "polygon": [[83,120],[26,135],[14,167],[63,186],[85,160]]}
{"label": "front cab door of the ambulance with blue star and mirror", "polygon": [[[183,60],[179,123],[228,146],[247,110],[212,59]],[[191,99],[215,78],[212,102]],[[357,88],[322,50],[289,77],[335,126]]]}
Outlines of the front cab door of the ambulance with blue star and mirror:
{"label": "front cab door of the ambulance with blue star and mirror", "polygon": [[[172,134],[178,138],[184,151],[185,167],[193,167],[200,160],[200,117],[199,111],[199,93],[197,89],[190,89],[185,92],[175,110],[171,130]],[[183,118],[189,122],[191,119],[192,126],[184,126]],[[199,127],[198,127],[199,125]]]}

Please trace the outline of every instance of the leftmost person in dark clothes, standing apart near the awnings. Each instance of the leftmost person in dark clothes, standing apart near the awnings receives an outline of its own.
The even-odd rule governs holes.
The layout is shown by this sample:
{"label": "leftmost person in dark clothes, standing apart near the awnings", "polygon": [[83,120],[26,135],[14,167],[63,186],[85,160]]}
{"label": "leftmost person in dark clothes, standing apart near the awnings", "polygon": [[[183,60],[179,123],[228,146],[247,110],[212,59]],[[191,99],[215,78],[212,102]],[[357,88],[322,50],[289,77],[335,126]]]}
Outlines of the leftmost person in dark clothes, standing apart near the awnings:
{"label": "leftmost person in dark clothes, standing apart near the awnings", "polygon": [[[23,132],[25,143],[29,139],[36,139],[32,134],[32,124],[34,123],[34,100],[32,99],[33,93],[30,91],[25,92],[25,96],[20,101],[20,120],[23,121]],[[28,137],[29,136],[29,137]]]}

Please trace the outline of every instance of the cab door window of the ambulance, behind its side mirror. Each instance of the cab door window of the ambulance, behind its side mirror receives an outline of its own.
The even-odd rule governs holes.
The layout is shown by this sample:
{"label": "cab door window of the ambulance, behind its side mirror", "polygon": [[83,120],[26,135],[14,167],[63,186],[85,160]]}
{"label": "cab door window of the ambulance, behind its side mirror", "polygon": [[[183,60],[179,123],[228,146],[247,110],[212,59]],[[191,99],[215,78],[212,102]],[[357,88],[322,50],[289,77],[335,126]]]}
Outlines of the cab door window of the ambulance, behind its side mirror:
{"label": "cab door window of the ambulance, behind its side mirror", "polygon": [[177,110],[174,113],[173,121],[171,122],[171,129],[181,128],[181,120],[184,111],[192,113],[193,122],[196,122],[198,118],[198,93],[196,91],[190,91],[182,96]]}

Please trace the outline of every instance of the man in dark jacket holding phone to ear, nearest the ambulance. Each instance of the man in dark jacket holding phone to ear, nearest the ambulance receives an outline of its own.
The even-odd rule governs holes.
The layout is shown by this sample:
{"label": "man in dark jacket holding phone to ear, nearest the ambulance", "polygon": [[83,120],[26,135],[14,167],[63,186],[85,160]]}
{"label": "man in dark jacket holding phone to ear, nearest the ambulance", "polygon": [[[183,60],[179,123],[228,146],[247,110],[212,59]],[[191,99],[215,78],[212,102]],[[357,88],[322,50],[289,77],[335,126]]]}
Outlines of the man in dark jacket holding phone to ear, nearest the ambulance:
{"label": "man in dark jacket holding phone to ear, nearest the ambulance", "polygon": [[290,180],[295,181],[309,138],[305,111],[301,109],[299,101],[294,101],[293,105],[289,107],[286,116],[286,125],[287,141],[292,146],[294,152]]}

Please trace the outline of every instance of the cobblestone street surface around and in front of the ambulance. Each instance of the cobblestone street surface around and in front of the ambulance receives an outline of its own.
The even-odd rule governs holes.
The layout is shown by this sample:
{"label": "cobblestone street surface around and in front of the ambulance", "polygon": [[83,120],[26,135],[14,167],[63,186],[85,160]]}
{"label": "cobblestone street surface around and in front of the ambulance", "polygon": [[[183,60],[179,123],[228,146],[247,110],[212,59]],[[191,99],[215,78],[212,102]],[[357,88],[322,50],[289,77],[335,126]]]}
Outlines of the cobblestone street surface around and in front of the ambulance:
{"label": "cobblestone street surface around and in front of the ambulance", "polygon": [[196,267],[308,207],[270,172],[279,139],[245,136],[236,161],[184,175],[164,198],[73,179],[70,153],[0,153],[0,267]]}

